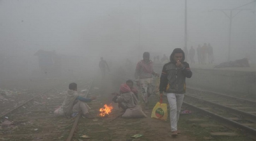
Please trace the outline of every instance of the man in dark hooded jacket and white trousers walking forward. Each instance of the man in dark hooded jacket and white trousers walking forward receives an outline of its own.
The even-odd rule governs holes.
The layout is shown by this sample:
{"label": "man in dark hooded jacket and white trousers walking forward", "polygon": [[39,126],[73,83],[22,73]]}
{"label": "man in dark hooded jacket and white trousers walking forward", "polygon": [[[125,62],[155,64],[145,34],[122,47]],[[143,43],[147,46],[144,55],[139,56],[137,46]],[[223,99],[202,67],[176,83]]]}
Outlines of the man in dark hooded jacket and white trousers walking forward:
{"label": "man in dark hooded jacket and white trousers walking forward", "polygon": [[170,62],[163,66],[160,78],[160,96],[162,96],[163,91],[165,91],[170,105],[172,136],[178,135],[177,123],[184,93],[186,91],[185,79],[186,77],[191,78],[192,76],[189,63],[184,62],[184,60],[185,54],[183,50],[175,48],[170,56]]}

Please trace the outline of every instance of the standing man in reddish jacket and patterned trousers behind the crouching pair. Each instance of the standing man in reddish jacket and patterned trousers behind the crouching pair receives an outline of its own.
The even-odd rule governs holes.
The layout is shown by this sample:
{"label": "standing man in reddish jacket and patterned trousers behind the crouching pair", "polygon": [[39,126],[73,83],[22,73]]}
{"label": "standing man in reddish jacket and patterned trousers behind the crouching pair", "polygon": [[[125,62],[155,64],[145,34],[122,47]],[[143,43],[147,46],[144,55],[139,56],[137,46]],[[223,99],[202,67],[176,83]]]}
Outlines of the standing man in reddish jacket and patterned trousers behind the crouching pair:
{"label": "standing man in reddish jacket and patterned trousers behind the crouching pair", "polygon": [[159,76],[153,71],[153,62],[149,60],[149,53],[143,53],[143,60],[137,63],[135,69],[135,81],[137,86],[141,87],[142,99],[145,103],[145,109],[148,110],[148,97],[154,92],[152,75]]}

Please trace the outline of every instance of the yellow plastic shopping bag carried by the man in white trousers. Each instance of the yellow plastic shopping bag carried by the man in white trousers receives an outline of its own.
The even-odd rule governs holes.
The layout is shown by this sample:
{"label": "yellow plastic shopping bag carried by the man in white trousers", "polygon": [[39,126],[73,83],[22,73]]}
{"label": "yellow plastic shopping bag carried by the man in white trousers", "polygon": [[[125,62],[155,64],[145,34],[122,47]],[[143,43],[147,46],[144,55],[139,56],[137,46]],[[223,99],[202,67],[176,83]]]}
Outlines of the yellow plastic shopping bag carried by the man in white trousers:
{"label": "yellow plastic shopping bag carried by the man in white trousers", "polygon": [[157,102],[152,110],[151,118],[154,117],[154,118],[163,119],[166,121],[167,116],[168,116],[167,104],[162,103],[162,99],[160,98],[160,102]]}

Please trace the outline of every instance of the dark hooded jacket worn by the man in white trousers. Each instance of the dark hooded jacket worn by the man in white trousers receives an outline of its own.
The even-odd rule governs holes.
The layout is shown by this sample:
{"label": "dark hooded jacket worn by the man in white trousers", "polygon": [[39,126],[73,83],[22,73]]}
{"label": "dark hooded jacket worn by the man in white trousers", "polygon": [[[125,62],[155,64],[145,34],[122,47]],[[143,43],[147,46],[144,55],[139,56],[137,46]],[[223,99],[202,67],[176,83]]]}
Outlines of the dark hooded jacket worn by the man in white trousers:
{"label": "dark hooded jacket worn by the man in white trousers", "polygon": [[[183,57],[181,63],[183,67],[176,67],[176,61],[173,59],[174,54],[182,53]],[[160,78],[159,91],[167,93],[185,93],[186,92],[186,77],[191,78],[192,72],[189,68],[189,63],[184,62],[185,54],[180,48],[173,50],[170,56],[170,62],[163,66],[162,74]]]}

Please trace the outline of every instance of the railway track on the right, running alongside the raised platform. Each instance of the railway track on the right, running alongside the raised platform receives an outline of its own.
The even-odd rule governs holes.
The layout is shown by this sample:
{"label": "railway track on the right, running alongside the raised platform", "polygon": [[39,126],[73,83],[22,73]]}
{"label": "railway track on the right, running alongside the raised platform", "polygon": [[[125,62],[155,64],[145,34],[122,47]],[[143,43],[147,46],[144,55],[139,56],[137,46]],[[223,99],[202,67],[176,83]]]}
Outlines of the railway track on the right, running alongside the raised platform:
{"label": "railway track on the right, running alongside the raised platform", "polygon": [[252,100],[188,88],[184,105],[200,110],[255,139],[256,102]]}

